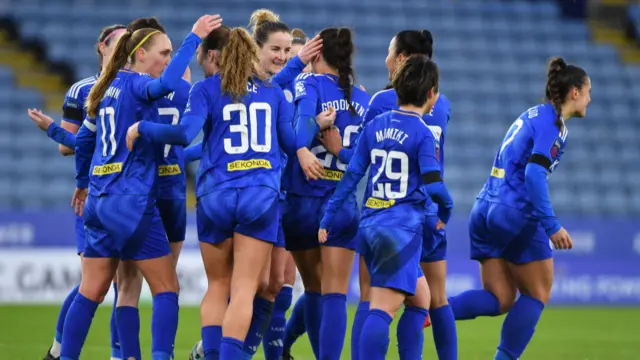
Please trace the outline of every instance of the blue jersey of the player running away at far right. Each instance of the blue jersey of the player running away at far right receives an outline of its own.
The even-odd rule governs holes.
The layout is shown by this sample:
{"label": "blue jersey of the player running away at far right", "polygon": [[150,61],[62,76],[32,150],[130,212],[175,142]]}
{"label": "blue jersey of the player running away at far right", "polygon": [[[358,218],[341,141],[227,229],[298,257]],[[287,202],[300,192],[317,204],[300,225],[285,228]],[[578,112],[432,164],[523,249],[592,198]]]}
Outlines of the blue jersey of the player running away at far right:
{"label": "blue jersey of the player running away at far right", "polygon": [[541,104],[518,117],[502,140],[478,199],[533,211],[525,185],[525,167],[533,154],[549,160],[548,175],[560,162],[567,144],[567,127],[562,132],[558,129],[556,114],[551,104]]}

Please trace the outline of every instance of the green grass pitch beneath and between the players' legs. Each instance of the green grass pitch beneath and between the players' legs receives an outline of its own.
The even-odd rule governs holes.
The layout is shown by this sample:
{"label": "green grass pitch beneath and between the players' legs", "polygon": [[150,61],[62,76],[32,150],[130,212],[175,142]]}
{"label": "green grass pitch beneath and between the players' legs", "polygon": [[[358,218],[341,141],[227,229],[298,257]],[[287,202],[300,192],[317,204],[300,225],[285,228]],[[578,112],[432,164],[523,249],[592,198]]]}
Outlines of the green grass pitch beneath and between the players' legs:
{"label": "green grass pitch beneath and between the players' legs", "polygon": [[[349,315],[353,318],[354,309]],[[0,359],[42,359],[53,339],[57,306],[0,306]],[[151,308],[144,307],[141,343],[143,356],[150,358]],[[111,308],[98,310],[82,352],[83,359],[108,360],[109,317]],[[176,358],[188,352],[200,338],[199,311],[180,309],[180,328],[176,339]],[[147,325],[145,325],[147,324]],[[458,322],[461,360],[493,359],[500,336],[502,317]],[[397,359],[395,328],[391,331],[388,359]],[[425,333],[424,359],[436,359],[429,330]],[[343,359],[349,359],[349,334]],[[299,339],[292,354],[296,360],[313,359],[306,337]],[[264,359],[262,350],[255,359]],[[640,359],[640,308],[549,308],[545,310],[531,345],[523,359],[536,360],[626,360]]]}

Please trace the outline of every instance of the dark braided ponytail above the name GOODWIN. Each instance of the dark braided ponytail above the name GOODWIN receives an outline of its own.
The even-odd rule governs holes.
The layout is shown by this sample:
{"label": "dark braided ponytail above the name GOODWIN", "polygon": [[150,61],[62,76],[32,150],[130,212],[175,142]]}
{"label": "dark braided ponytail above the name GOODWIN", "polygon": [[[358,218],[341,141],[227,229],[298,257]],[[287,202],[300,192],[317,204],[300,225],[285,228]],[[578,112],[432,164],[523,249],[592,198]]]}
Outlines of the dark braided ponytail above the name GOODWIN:
{"label": "dark braided ponytail above the name GOODWIN", "polygon": [[354,50],[351,30],[328,28],[320,31],[319,35],[322,39],[322,57],[329,66],[338,71],[338,86],[344,91],[349,111],[357,113],[351,104],[351,90],[355,80],[351,67]]}

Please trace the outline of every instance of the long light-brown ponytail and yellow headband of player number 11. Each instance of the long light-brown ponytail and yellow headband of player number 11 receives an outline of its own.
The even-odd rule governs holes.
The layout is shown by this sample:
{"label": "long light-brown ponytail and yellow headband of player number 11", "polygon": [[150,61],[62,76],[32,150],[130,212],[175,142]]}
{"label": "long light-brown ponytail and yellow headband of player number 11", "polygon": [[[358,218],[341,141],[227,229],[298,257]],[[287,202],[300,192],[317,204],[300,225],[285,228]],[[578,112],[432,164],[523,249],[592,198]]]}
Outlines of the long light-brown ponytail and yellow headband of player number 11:
{"label": "long light-brown ponytail and yellow headband of player number 11", "polygon": [[118,71],[127,64],[130,57],[132,57],[131,62],[135,63],[135,56],[131,56],[132,52],[139,48],[149,49],[153,45],[156,35],[163,33],[161,30],[154,28],[135,29],[133,26],[137,25],[136,22],[137,20],[134,20],[127,26],[127,30],[122,34],[115,49],[113,49],[111,59],[109,59],[109,62],[100,73],[100,77],[91,88],[89,96],[87,96],[86,107],[89,117],[97,115],[104,93],[113,79],[116,78]]}

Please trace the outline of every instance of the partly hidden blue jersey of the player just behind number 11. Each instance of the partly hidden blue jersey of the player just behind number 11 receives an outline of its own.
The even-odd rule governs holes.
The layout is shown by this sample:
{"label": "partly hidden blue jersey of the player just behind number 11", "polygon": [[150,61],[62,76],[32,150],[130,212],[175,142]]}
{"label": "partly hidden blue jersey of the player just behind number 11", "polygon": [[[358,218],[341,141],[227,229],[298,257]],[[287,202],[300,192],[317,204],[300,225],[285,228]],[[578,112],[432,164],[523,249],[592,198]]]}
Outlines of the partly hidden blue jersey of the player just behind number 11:
{"label": "partly hidden blue jersey of the player just behind number 11", "polygon": [[[180,121],[189,100],[189,90],[191,90],[191,84],[182,80],[176,91],[158,99],[160,123],[176,125]],[[158,187],[161,192],[171,191],[173,186],[186,186],[183,152],[182,146],[164,145],[162,158],[158,165]]]}

